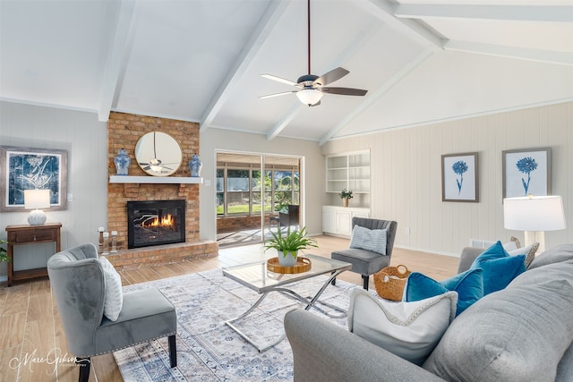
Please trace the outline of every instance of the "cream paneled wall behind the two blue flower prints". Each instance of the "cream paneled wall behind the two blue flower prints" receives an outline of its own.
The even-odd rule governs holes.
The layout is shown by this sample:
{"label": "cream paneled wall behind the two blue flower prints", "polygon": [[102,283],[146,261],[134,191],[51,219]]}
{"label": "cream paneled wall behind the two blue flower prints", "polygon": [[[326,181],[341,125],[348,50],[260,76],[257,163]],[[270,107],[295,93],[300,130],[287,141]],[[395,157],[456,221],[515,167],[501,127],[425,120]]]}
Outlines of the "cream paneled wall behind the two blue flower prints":
{"label": "cream paneled wall behind the two blue flower prints", "polygon": [[[542,147],[552,148],[552,194],[569,221],[545,233],[551,248],[573,239],[573,103],[333,140],[321,151],[371,149],[372,216],[398,221],[395,245],[457,256],[472,238],[524,241],[503,227],[501,151]],[[479,153],[480,201],[442,202],[441,155],[466,152]]]}

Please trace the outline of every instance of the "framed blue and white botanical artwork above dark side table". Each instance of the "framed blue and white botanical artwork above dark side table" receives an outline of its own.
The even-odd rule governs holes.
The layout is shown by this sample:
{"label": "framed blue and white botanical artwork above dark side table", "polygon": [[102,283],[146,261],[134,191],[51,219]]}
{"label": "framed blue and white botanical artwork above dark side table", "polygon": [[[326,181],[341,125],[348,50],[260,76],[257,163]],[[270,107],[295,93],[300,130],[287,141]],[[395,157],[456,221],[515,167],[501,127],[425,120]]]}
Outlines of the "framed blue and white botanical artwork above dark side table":
{"label": "framed blue and white botanical artwork above dark side table", "polygon": [[47,210],[66,208],[65,150],[1,146],[0,168],[0,210],[23,211],[26,190],[49,190],[50,208]]}

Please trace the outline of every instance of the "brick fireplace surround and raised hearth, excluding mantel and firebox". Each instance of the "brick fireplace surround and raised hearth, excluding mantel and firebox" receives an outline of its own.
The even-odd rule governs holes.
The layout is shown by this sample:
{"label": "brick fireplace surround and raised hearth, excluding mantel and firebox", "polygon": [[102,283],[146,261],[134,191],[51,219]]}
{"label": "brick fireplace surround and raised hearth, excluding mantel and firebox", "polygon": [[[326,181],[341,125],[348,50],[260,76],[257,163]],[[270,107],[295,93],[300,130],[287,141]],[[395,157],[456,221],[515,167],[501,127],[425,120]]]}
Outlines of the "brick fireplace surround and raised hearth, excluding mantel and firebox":
{"label": "brick fireplace surround and raised hearth, excluding mantel and firebox", "polygon": [[[141,170],[134,154],[137,141],[148,132],[165,132],[181,147],[183,163],[170,177],[190,176],[187,163],[193,154],[199,154],[198,123],[116,112],[109,115],[107,122],[107,173],[115,174],[114,157],[119,149],[125,149],[132,159],[129,174],[150,176]],[[199,239],[199,189],[199,184],[187,183],[107,183],[107,231],[117,231],[119,249],[107,259],[116,268],[122,269],[140,267],[142,264],[161,264],[181,259],[218,256],[217,242],[201,242]],[[128,250],[127,202],[175,199],[186,201],[185,242]]]}

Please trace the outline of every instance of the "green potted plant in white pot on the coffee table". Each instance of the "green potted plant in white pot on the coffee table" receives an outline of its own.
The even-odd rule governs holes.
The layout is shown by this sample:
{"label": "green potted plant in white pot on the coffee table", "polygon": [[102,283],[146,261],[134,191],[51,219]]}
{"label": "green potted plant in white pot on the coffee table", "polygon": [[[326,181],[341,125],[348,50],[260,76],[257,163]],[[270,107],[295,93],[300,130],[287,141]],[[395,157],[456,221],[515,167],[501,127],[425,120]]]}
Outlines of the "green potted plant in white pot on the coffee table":
{"label": "green potted plant in white pot on the coffee table", "polygon": [[283,267],[295,265],[299,250],[318,248],[316,239],[306,237],[306,227],[302,227],[300,231],[291,231],[289,226],[286,229],[286,235],[283,235],[280,228],[278,233],[272,231],[270,233],[273,238],[265,242],[265,249],[278,250],[278,263]]}

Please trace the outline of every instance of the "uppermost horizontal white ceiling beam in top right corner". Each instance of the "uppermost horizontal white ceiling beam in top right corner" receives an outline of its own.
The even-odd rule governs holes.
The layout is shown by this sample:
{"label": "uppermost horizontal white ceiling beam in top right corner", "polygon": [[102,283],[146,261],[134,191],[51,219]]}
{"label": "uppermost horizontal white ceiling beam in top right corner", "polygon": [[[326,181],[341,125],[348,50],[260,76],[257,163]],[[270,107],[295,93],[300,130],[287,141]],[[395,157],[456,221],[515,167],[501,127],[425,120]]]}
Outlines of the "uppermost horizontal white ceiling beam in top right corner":
{"label": "uppermost horizontal white ceiling beam in top right corner", "polygon": [[475,19],[572,22],[572,6],[400,4],[394,14],[407,19]]}

